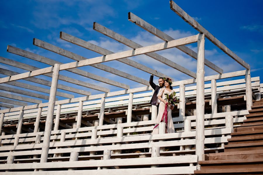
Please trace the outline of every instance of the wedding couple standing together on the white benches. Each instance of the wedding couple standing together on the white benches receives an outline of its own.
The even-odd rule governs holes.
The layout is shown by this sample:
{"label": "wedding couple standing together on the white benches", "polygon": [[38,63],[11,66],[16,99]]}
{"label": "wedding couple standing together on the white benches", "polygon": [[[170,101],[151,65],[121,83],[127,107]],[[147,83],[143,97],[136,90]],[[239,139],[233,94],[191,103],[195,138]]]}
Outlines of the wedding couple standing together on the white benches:
{"label": "wedding couple standing together on the white benches", "polygon": [[153,83],[153,75],[151,75],[149,83],[154,89],[153,97],[150,103],[158,108],[158,115],[152,134],[159,133],[159,122],[166,122],[166,133],[175,132],[172,121],[172,110],[174,108],[174,104],[168,103],[167,99],[168,95],[171,96],[174,93],[171,86],[172,80],[170,78],[159,78],[158,83],[160,86],[158,86]]}

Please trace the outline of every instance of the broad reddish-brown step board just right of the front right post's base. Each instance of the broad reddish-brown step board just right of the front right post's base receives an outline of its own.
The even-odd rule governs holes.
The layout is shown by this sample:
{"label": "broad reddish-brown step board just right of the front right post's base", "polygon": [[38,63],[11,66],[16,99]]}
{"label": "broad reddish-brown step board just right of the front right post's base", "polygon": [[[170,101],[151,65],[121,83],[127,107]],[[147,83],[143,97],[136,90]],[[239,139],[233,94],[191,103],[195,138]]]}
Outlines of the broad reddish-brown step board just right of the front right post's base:
{"label": "broad reddish-brown step board just right of the front right post's base", "polygon": [[209,160],[256,159],[263,158],[263,150],[210,153]]}

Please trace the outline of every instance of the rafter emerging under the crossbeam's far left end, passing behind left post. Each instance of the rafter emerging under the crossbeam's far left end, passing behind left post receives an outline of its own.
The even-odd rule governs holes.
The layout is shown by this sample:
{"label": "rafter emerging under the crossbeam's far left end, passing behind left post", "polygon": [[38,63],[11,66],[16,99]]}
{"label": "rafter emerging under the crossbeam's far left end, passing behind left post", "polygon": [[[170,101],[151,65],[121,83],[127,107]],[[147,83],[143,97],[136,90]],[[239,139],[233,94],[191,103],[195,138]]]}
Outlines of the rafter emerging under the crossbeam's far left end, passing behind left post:
{"label": "rafter emerging under the crossbeam's far left end, passing behind left post", "polygon": [[[38,91],[38,92],[44,92],[44,93],[47,93],[47,94],[50,93],[50,89],[41,88],[39,86],[34,86],[34,85],[26,84],[26,83],[21,83],[21,82],[18,82],[18,81],[7,82],[6,84],[17,86],[17,87],[20,87],[20,88],[35,90],[35,91]],[[67,94],[67,93],[64,93],[64,92],[57,92],[56,95],[60,96],[60,97],[65,97],[65,98],[74,98],[74,95]],[[25,105],[21,105],[21,106],[25,106]]]}

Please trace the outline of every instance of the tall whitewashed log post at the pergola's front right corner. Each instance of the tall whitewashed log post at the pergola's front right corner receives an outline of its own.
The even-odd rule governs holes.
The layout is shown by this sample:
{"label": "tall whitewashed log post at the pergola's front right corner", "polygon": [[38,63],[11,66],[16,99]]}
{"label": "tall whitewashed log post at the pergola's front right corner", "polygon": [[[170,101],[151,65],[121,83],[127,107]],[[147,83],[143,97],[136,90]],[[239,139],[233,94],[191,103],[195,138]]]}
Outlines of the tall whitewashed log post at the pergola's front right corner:
{"label": "tall whitewashed log post at the pergola's front right corner", "polygon": [[[197,40],[197,71],[196,71],[196,134],[195,154],[198,161],[205,153],[205,35],[199,34]],[[200,165],[198,165],[200,169]]]}

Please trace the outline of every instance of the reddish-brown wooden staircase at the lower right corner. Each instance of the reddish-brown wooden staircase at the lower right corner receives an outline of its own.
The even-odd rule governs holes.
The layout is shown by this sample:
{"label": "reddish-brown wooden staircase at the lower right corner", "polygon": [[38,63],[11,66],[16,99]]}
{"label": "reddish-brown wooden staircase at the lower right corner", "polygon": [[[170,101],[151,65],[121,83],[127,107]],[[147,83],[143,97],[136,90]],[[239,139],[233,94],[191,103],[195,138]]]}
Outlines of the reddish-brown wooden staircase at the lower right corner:
{"label": "reddish-brown wooden staircase at the lower right corner", "polygon": [[255,101],[244,124],[234,129],[223,153],[199,161],[195,174],[263,174],[263,99]]}

